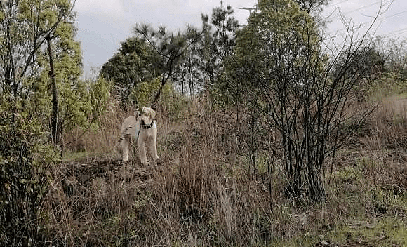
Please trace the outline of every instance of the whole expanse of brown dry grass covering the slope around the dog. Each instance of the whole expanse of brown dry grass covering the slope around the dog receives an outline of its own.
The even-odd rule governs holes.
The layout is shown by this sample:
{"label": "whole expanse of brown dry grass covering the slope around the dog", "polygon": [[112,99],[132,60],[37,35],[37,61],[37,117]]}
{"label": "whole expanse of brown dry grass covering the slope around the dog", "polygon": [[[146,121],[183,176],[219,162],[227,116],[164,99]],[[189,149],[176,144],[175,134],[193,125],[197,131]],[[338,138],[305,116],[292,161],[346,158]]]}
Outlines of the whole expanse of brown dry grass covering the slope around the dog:
{"label": "whole expanse of brown dry grass covering the slope around the dog", "polygon": [[161,166],[114,161],[119,126],[131,109],[121,111],[112,100],[100,128],[68,149],[109,159],[66,161],[51,172],[41,208],[47,244],[320,246],[323,235],[332,246],[402,246],[406,117],[394,120],[392,107],[386,102],[375,112],[363,145],[340,150],[325,174],[326,204],[298,205],[284,196],[280,154],[269,174],[260,158],[253,170],[243,116],[239,123],[236,112],[211,109],[206,98],[190,100],[175,120],[159,112]]}

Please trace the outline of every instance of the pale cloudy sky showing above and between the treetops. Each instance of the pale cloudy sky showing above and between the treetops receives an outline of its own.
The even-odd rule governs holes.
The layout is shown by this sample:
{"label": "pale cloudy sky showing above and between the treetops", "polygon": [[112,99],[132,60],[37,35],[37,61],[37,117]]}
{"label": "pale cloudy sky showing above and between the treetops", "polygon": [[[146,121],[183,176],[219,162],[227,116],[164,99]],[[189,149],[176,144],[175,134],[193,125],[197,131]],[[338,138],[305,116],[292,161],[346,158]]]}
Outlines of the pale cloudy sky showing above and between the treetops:
{"label": "pale cloudy sky showing above and between the treetops", "polygon": [[[326,33],[345,33],[344,17],[363,32],[384,5],[371,32],[389,39],[407,40],[406,0],[332,0],[324,8]],[[234,9],[241,25],[257,0],[224,0]],[[170,30],[184,29],[187,24],[201,27],[201,13],[211,15],[220,0],[76,0],[76,39],[81,41],[84,78],[94,78],[98,69],[119,50],[121,42],[133,36],[137,23],[164,25]]]}

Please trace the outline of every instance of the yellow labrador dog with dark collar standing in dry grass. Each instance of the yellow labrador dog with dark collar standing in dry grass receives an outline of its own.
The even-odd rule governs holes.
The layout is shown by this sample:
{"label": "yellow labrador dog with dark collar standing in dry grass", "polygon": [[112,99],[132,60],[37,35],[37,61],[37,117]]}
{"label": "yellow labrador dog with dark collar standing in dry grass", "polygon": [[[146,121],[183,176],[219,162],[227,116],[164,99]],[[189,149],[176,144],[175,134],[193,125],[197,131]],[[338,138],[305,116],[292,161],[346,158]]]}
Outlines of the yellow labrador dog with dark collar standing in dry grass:
{"label": "yellow labrador dog with dark collar standing in dry grass", "polygon": [[128,152],[131,150],[131,140],[135,138],[142,164],[148,164],[145,153],[145,144],[149,147],[152,159],[159,162],[157,155],[157,126],[156,111],[150,107],[142,107],[135,110],[134,116],[124,119],[121,124],[121,150],[122,161],[128,160]]}

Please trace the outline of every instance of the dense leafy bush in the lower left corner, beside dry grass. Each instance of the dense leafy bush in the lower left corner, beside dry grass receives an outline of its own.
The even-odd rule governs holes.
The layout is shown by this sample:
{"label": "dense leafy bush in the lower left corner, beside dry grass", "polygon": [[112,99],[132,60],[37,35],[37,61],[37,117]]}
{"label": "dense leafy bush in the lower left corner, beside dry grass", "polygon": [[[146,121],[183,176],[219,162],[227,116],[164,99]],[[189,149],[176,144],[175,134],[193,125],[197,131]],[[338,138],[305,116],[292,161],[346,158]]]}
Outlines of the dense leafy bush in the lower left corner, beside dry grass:
{"label": "dense leafy bush in the lower left corner, beside dry grass", "polygon": [[46,171],[55,160],[41,126],[20,102],[0,99],[0,246],[41,241],[37,215],[48,191]]}

